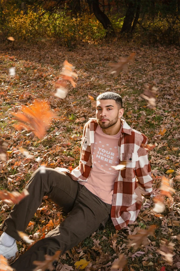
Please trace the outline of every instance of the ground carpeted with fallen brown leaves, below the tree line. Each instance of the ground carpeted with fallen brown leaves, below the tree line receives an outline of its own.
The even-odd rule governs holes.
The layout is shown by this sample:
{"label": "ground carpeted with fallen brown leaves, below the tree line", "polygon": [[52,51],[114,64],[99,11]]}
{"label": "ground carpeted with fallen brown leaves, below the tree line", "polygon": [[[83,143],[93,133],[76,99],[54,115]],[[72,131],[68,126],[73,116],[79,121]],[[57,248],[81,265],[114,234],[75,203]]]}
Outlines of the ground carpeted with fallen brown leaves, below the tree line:
{"label": "ground carpeted with fallen brown leaves, below the tree line", "polygon": [[[109,62],[117,63],[119,57],[135,53],[134,62],[128,64],[128,72],[109,75]],[[78,75],[76,88],[67,84],[69,92],[65,99],[54,96],[54,84],[60,78],[63,62],[67,59]],[[137,221],[116,231],[109,220],[105,230],[98,230],[76,247],[61,256],[56,270],[122,270],[113,269],[119,255],[127,258],[126,270],[178,270],[179,256],[179,164],[180,164],[180,127],[179,127],[179,50],[174,46],[136,47],[109,45],[79,46],[69,51],[57,45],[22,46],[1,49],[0,56],[0,129],[1,139],[8,142],[8,160],[0,162],[0,188],[22,192],[32,173],[40,166],[51,168],[75,168],[80,158],[80,143],[83,126],[88,118],[95,117],[93,102],[88,98],[96,97],[105,91],[119,93],[124,102],[124,119],[134,129],[148,137],[148,143],[158,146],[149,151],[154,189],[159,188],[161,176],[169,179],[176,190],[173,204],[167,199],[162,214],[151,210],[154,202],[145,198]],[[9,69],[14,68],[13,76]],[[14,75],[15,74],[15,75]],[[145,85],[158,88],[156,106],[148,105],[141,94]],[[18,121],[10,112],[18,112],[35,99],[45,99],[56,118],[44,138],[38,138],[32,131],[17,131],[13,125]],[[19,149],[20,148],[20,149]],[[28,151],[28,155],[21,149]],[[12,209],[3,201],[1,204],[1,223]],[[47,232],[61,223],[66,214],[49,198],[44,197],[41,206],[30,221],[26,234],[38,241]],[[128,235],[135,235],[156,225],[154,235],[148,236],[148,244],[138,249],[128,247]],[[2,233],[2,232],[1,232]],[[166,244],[174,242],[173,264],[164,260],[157,252]],[[32,244],[18,242],[20,254]],[[161,245],[161,246],[160,246]],[[163,250],[163,249],[162,249]],[[168,253],[164,250],[164,253]],[[83,261],[81,261],[83,260]],[[85,261],[84,261],[85,260]],[[125,260],[124,260],[125,261]],[[79,267],[78,267],[79,266]],[[117,266],[117,264],[116,264]]]}

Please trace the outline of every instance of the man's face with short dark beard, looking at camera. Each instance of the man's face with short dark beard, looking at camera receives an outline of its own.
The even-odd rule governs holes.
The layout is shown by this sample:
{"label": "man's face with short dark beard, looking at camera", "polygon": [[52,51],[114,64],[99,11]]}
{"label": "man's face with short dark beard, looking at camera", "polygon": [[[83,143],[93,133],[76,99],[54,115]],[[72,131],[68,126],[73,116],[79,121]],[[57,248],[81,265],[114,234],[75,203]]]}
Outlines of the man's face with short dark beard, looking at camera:
{"label": "man's face with short dark beard, looking at camera", "polygon": [[[119,110],[114,100],[96,102],[96,120],[101,128],[109,128],[118,121]],[[120,119],[119,119],[120,120]]]}

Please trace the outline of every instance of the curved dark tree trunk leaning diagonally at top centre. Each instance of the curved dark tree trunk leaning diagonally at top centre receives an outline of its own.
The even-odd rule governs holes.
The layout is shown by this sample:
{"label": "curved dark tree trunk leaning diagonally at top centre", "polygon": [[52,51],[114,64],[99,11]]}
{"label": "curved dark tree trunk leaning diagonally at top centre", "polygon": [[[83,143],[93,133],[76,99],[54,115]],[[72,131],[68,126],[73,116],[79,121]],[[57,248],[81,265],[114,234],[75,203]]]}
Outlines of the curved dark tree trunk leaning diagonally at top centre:
{"label": "curved dark tree trunk leaning diagonally at top centre", "polygon": [[114,32],[114,28],[109,20],[109,18],[106,16],[106,14],[104,12],[102,12],[100,10],[99,7],[99,0],[93,0],[92,1],[92,5],[93,5],[93,13],[96,16],[97,20],[101,22],[101,24],[103,25],[104,29],[107,30],[107,36],[111,35],[111,36],[116,36],[115,32]]}

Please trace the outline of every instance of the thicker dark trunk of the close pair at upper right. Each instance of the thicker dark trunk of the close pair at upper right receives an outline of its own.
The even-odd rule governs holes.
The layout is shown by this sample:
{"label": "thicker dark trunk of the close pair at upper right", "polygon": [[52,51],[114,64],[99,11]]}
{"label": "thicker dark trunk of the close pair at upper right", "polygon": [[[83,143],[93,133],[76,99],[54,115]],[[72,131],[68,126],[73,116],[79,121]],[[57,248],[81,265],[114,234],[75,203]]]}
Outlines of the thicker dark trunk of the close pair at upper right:
{"label": "thicker dark trunk of the close pair at upper right", "polygon": [[134,19],[135,8],[136,8],[136,0],[130,0],[128,9],[126,11],[126,15],[124,18],[123,26],[121,28],[121,33],[131,31],[131,25]]}

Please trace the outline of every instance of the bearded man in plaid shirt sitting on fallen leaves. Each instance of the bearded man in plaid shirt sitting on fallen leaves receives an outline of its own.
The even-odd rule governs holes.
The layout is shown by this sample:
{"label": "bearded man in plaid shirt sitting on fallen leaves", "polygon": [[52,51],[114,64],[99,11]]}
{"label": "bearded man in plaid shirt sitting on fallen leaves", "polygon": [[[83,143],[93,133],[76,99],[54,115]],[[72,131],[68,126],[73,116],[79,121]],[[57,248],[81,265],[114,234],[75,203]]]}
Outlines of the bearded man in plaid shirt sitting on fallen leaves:
{"label": "bearded man in plaid shirt sitting on fallen leaves", "polygon": [[[57,250],[63,254],[104,228],[110,216],[116,230],[135,221],[141,207],[138,186],[144,195],[152,194],[151,167],[147,151],[141,147],[147,137],[121,119],[123,112],[120,95],[99,95],[96,118],[84,125],[79,166],[71,173],[63,168],[33,173],[26,186],[29,195],[4,221],[0,253],[7,258],[15,256],[16,240],[21,239],[17,230],[26,230],[43,196],[48,195],[69,214],[12,264],[17,271],[33,270],[33,261],[44,260],[45,254],[53,255]],[[125,163],[123,170],[113,167]]]}

